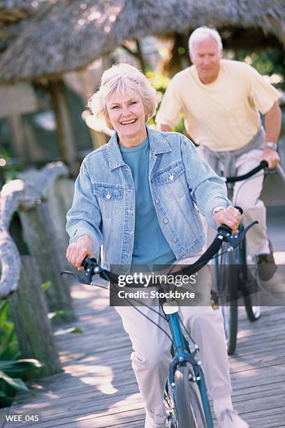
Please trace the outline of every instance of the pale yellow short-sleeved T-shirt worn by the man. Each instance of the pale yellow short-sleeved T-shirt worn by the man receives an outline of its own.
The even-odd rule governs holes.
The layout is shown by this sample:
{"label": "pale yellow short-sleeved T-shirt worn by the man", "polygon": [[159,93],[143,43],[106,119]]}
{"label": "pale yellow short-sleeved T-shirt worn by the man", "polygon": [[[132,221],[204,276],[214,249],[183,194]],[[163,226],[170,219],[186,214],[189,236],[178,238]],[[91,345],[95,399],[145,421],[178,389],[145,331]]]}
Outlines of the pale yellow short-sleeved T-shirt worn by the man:
{"label": "pale yellow short-sleeved T-shirt worn by the man", "polygon": [[157,124],[175,127],[180,114],[196,144],[214,151],[237,150],[249,143],[263,115],[281,94],[244,62],[221,59],[217,79],[205,85],[195,66],[177,73],[163,96]]}

